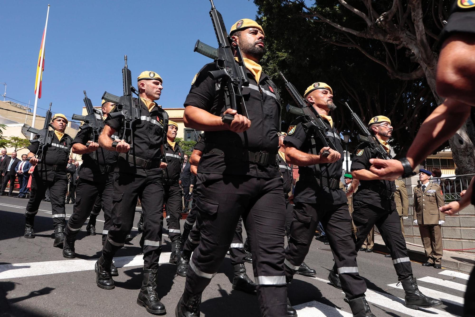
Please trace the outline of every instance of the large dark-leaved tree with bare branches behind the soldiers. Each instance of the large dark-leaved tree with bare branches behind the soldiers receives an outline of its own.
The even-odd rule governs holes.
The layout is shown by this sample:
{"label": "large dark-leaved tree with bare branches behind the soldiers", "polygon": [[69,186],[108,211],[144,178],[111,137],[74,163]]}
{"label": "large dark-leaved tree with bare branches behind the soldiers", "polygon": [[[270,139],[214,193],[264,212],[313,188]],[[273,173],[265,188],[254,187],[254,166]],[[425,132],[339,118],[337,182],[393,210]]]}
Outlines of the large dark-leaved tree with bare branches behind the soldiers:
{"label": "large dark-leaved tree with bare branches behind the soldiers", "polygon": [[[266,31],[266,70],[274,76],[277,69],[285,71],[302,91],[328,80],[335,99],[348,101],[365,121],[378,114],[390,117],[395,123],[391,145],[403,155],[422,121],[443,101],[435,75],[438,36],[450,1],[254,2]],[[341,108],[335,116],[340,129],[353,130]],[[449,140],[459,174],[475,172],[474,136],[470,121]]]}

